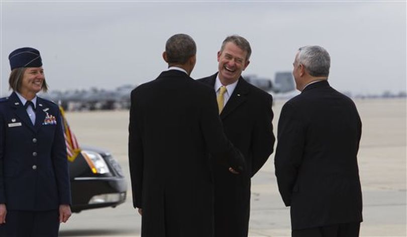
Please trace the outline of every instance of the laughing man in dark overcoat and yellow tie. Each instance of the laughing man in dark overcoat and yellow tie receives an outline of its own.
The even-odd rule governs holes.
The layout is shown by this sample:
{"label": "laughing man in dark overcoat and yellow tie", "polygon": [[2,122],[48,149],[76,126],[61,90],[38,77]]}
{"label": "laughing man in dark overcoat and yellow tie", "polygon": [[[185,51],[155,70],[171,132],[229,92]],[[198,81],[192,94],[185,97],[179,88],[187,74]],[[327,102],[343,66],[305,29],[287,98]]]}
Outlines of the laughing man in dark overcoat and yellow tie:
{"label": "laughing man in dark overcoat and yellow tie", "polygon": [[246,175],[236,176],[213,160],[216,237],[247,236],[250,178],[273,152],[273,99],[241,76],[250,63],[250,55],[250,44],[245,38],[229,36],[218,52],[218,73],[199,80],[215,89],[225,134],[243,153],[248,170]]}

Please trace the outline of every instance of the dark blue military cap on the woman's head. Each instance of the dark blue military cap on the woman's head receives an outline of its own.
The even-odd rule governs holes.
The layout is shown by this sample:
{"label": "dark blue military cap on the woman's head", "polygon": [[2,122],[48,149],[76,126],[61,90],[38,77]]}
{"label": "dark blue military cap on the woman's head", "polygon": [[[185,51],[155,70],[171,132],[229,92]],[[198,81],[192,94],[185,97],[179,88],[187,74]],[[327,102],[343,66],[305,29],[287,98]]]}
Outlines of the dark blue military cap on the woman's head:
{"label": "dark blue military cap on the woman's head", "polygon": [[16,49],[9,55],[11,70],[15,68],[38,68],[42,66],[40,51],[25,47]]}

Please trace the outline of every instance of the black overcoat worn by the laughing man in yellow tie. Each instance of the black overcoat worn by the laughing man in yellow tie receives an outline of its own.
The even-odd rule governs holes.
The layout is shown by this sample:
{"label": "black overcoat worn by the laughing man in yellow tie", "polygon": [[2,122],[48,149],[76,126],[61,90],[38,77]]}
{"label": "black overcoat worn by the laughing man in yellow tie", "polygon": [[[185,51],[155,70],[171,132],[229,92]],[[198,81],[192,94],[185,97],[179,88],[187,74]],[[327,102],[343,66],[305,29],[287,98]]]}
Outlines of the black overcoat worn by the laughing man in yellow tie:
{"label": "black overcoat worn by the laughing man in yellow tie", "polygon": [[[214,90],[217,74],[198,81]],[[215,91],[215,90],[214,90]],[[215,236],[243,237],[248,234],[250,177],[273,152],[273,99],[242,77],[221,113],[225,134],[243,153],[250,173],[236,176],[219,162],[215,174]]]}

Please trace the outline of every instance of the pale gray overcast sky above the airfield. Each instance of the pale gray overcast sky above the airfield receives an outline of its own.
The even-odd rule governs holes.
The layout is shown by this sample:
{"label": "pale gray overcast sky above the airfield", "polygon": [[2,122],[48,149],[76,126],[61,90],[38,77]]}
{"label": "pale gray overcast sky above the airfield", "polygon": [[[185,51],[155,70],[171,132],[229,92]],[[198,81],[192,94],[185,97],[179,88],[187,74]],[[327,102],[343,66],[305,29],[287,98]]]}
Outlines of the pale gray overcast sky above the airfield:
{"label": "pale gray overcast sky above the airfield", "polygon": [[331,55],[331,85],[352,94],[406,90],[406,3],[399,2],[4,2],[1,91],[8,55],[40,50],[52,89],[115,89],[166,69],[161,54],[177,33],[197,44],[193,78],[215,73],[226,36],[252,46],[244,74],[274,78],[291,71],[297,49],[320,45]]}

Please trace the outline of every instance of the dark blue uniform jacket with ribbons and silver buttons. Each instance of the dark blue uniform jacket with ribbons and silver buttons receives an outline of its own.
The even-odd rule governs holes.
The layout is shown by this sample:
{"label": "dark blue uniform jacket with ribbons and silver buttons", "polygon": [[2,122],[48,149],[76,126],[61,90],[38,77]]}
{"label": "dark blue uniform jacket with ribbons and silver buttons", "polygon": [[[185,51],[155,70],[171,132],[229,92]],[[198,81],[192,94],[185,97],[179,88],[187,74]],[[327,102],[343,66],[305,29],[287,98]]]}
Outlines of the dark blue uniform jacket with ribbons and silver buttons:
{"label": "dark blue uniform jacket with ribbons and silver buttons", "polygon": [[[45,123],[47,114],[56,123]],[[9,210],[41,211],[71,204],[61,115],[37,97],[32,124],[17,94],[0,99],[0,203]]]}

